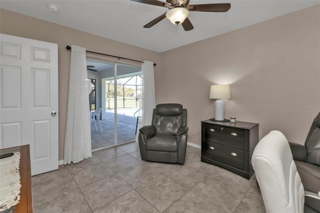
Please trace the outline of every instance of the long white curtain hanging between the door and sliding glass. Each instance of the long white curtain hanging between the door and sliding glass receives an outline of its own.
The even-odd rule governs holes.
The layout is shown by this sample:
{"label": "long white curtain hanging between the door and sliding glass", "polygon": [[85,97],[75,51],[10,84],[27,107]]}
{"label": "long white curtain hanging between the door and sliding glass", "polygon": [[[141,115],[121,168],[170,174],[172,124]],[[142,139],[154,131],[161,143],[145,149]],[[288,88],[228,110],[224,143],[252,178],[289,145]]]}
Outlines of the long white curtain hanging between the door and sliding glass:
{"label": "long white curtain hanging between the door and sliding glass", "polygon": [[64,164],[92,157],[85,48],[71,46]]}

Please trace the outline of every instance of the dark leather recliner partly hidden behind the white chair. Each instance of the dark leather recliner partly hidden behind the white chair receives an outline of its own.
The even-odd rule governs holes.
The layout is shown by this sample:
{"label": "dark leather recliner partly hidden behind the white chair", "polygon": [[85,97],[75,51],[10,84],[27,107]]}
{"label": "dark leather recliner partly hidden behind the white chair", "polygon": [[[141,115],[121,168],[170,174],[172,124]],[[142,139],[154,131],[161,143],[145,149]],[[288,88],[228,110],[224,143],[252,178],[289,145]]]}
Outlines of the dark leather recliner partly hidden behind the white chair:
{"label": "dark leather recliner partly hidden behind the white chair", "polygon": [[305,190],[320,191],[320,112],[312,121],[304,145],[289,145]]}

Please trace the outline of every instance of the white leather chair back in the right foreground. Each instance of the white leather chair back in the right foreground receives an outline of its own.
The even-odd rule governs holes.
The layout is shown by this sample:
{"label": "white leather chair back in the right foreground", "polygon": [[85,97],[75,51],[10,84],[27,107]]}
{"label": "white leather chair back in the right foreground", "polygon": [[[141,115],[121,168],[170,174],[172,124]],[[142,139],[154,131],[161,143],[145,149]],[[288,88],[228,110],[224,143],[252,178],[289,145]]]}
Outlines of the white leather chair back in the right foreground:
{"label": "white leather chair back in the right foreground", "polygon": [[280,131],[270,131],[257,143],[251,162],[266,212],[303,212],[304,188]]}

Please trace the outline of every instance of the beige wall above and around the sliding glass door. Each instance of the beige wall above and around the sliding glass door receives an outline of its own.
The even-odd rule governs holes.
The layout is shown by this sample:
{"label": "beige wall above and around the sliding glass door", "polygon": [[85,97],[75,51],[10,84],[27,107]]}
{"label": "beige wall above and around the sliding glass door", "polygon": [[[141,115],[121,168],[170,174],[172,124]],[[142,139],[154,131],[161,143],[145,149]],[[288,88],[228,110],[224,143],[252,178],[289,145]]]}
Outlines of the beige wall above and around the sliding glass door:
{"label": "beige wall above and around the sliding glass door", "polygon": [[[66,50],[66,45],[74,44],[83,46],[87,50],[91,51],[119,55],[121,57],[132,58],[136,60],[150,60],[155,63],[159,63],[160,54],[157,52],[106,39],[90,33],[21,15],[4,9],[0,9],[0,33],[58,44],[59,160],[63,159],[69,84],[70,51]],[[96,55],[87,55],[90,57],[99,58]],[[132,63],[132,61],[117,60],[111,57],[100,58],[107,59],[108,61]],[[159,70],[159,68],[160,65],[155,66],[154,71],[156,72]]]}

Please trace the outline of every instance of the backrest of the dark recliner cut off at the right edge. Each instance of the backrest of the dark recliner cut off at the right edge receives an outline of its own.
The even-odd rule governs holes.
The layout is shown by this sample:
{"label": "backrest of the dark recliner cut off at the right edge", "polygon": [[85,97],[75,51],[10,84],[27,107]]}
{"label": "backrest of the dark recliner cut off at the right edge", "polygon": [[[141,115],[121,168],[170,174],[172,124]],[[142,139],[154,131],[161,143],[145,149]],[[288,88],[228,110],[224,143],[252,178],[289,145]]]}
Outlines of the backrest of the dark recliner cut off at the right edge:
{"label": "backrest of the dark recliner cut off at the right edge", "polygon": [[320,112],[314,118],[304,145],[306,146],[306,162],[320,165]]}

